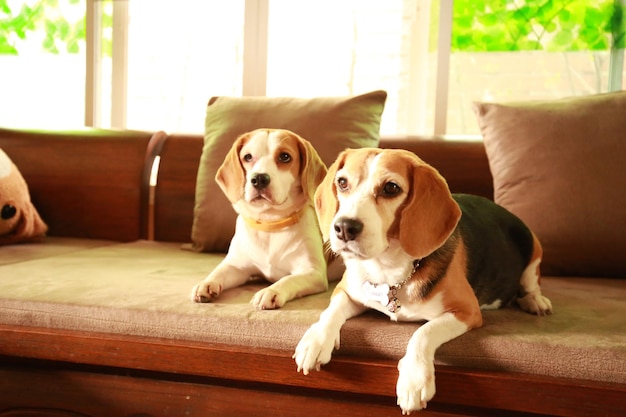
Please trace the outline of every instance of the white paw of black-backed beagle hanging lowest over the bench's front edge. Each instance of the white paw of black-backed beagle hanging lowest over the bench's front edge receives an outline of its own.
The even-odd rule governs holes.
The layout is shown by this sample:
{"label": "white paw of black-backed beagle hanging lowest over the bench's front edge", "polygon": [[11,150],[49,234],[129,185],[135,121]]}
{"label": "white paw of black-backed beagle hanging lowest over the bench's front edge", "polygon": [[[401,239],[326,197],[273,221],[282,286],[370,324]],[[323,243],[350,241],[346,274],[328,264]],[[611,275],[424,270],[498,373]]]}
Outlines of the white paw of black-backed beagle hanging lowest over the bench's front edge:
{"label": "white paw of black-backed beagle hanging lowest over the bench's front edge", "polygon": [[435,395],[435,366],[406,356],[398,363],[396,395],[403,415],[426,408]]}

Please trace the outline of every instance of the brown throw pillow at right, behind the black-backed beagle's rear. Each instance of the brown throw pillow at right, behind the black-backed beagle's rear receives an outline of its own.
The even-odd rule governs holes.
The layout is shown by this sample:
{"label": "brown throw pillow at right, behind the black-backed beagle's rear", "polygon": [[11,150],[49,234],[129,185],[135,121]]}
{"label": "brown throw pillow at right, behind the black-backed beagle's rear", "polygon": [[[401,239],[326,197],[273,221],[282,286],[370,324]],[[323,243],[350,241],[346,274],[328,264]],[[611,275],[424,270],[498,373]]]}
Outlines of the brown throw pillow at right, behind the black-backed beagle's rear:
{"label": "brown throw pillow at right, behind the black-backed beagle's rear", "polygon": [[495,201],[537,234],[543,271],[626,277],[626,92],[475,109]]}

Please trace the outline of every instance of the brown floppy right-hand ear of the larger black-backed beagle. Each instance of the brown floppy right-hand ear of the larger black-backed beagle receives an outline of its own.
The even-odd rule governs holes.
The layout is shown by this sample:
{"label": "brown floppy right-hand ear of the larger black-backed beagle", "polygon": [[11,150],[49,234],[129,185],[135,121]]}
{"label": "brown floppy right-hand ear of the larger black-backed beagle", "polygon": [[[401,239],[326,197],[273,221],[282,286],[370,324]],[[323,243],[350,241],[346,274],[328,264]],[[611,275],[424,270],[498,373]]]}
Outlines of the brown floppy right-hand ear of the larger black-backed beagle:
{"label": "brown floppy right-hand ear of the larger black-backed beagle", "polygon": [[450,237],[461,218],[461,209],[435,168],[416,156],[406,158],[411,159],[412,184],[400,214],[399,240],[408,254],[421,259]]}

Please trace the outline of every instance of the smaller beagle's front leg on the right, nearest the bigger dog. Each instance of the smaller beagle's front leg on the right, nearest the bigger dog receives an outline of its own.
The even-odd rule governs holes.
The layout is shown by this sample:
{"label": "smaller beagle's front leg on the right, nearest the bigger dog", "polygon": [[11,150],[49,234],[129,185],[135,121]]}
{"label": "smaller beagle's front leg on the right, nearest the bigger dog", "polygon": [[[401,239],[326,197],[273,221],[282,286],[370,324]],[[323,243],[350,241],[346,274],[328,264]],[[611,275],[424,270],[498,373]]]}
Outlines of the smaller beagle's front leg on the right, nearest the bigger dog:
{"label": "smaller beagle's front leg on the right, nearest the bigger dog", "polygon": [[294,298],[317,294],[327,289],[328,279],[323,272],[310,271],[287,275],[269,287],[257,291],[250,303],[259,310],[270,310],[280,308]]}

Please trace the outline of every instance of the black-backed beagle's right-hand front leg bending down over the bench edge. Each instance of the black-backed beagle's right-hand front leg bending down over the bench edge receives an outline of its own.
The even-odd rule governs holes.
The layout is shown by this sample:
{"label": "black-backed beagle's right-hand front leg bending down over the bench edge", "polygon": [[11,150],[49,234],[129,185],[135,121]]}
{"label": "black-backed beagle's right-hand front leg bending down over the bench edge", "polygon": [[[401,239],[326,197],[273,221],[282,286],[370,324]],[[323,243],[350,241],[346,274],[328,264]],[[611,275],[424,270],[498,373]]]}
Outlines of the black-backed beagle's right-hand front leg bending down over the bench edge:
{"label": "black-backed beagle's right-hand front leg bending down over the bench edge", "polygon": [[426,407],[435,395],[435,351],[442,344],[466,333],[469,326],[455,313],[444,313],[413,333],[406,354],[398,362],[396,395],[402,414]]}

